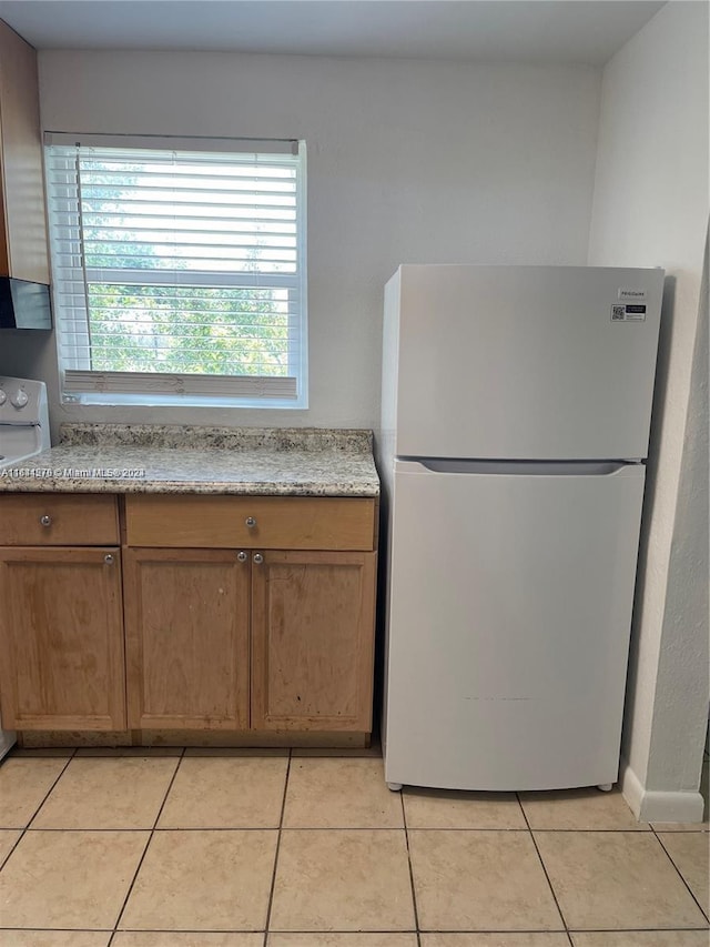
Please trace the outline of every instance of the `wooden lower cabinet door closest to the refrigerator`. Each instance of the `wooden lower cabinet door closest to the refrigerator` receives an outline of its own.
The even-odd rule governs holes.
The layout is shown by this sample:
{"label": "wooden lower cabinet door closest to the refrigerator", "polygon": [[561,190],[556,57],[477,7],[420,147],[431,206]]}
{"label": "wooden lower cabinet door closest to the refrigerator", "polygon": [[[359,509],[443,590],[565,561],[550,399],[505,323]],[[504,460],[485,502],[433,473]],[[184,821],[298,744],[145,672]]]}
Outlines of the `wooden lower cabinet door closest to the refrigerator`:
{"label": "wooden lower cabinet door closest to the refrigerator", "polygon": [[252,727],[372,728],[375,553],[252,565]]}

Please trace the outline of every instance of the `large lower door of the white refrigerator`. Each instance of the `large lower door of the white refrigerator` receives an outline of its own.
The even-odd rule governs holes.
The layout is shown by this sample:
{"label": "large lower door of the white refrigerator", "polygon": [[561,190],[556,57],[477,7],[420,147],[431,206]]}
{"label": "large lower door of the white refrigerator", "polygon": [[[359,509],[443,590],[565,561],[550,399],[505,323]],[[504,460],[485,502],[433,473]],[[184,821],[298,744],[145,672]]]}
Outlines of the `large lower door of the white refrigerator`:
{"label": "large lower door of the white refrigerator", "polygon": [[395,462],[385,778],[616,782],[643,466],[432,466]]}

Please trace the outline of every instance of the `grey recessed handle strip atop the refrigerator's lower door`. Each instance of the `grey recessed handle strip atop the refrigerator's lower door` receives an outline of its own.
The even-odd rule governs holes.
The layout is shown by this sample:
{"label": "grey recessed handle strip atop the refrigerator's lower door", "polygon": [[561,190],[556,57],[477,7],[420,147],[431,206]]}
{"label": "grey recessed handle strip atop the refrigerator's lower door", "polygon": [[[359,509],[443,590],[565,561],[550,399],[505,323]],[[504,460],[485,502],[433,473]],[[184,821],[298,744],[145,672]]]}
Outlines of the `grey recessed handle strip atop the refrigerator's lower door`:
{"label": "grey recessed handle strip atop the refrigerator's lower door", "polygon": [[487,476],[643,476],[642,463],[627,461],[459,461],[422,457],[395,461],[397,473]]}

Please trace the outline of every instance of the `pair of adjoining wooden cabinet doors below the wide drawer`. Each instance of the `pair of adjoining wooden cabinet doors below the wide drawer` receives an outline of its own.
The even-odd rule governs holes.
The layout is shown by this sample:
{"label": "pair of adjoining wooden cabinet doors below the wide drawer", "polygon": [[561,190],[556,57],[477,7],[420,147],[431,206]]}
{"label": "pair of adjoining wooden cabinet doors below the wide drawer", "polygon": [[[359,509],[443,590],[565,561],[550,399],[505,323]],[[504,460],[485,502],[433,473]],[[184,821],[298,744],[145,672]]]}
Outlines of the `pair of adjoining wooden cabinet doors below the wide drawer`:
{"label": "pair of adjoining wooden cabinet doors below the wide drawer", "polygon": [[129,726],[368,733],[375,553],[239,556],[125,551]]}

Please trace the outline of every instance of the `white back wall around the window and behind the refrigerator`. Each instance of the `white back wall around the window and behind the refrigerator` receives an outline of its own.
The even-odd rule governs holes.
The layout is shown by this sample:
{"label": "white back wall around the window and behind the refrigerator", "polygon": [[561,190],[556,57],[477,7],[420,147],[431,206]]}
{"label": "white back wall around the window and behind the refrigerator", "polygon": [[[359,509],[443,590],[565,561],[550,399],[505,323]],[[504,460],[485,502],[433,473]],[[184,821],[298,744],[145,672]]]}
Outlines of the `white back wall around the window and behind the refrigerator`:
{"label": "white back wall around the window and behind the refrigerator", "polygon": [[373,427],[382,301],[404,262],[584,264],[600,72],[199,52],[40,54],[45,129],[305,138],[307,412],[65,409],[51,346],[0,371],[53,377],[59,420]]}

